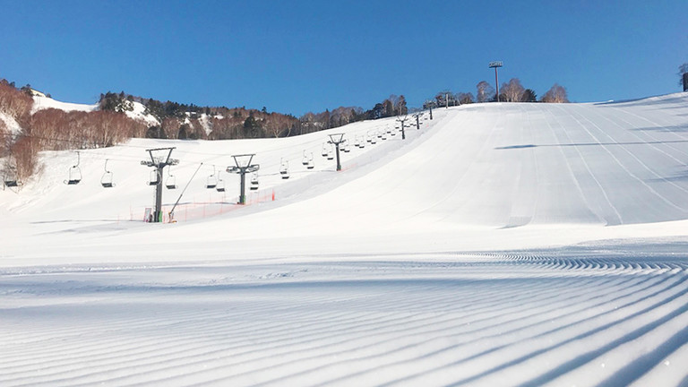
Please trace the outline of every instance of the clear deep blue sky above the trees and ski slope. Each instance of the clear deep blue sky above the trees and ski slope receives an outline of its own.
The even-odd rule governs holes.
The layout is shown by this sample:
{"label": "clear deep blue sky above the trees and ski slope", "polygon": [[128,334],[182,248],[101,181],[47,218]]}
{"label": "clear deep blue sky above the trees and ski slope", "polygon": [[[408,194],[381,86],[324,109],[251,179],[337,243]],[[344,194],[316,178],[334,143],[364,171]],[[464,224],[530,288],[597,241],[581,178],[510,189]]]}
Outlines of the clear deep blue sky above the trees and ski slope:
{"label": "clear deep blue sky above the trees and ski slope", "polygon": [[681,1],[0,0],[0,78],[55,99],[101,92],[300,116],[419,106],[519,78],[572,101],[679,91],[688,62]]}

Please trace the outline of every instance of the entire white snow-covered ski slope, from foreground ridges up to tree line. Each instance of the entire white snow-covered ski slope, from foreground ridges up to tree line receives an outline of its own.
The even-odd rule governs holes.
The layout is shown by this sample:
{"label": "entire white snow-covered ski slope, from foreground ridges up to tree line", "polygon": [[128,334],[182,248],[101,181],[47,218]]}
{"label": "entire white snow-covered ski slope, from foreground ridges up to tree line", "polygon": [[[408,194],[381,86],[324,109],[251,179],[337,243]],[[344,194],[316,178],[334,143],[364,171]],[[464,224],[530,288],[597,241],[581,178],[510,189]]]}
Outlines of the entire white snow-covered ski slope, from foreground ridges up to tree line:
{"label": "entire white snow-covered ski slope, from foreground ridges up to tree line", "polygon": [[[82,150],[79,185],[75,153],[45,153],[0,192],[0,385],[688,383],[686,93],[421,120],[133,140]],[[189,187],[146,224],[140,161],[167,146],[166,212]],[[248,152],[238,206],[224,169]]]}

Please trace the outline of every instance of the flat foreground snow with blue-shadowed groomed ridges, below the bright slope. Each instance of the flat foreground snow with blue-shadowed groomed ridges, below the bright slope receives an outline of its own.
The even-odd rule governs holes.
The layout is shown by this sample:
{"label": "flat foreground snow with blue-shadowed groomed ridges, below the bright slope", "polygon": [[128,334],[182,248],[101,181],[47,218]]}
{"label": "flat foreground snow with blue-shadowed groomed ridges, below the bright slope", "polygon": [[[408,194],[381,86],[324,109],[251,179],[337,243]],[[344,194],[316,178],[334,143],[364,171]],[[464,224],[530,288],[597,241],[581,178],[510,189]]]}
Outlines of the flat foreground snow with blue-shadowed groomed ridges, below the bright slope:
{"label": "flat foreground snow with blue-shadowed groomed ridges, below the bright slope", "polygon": [[684,258],[572,249],[5,274],[0,384],[681,383]]}

